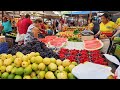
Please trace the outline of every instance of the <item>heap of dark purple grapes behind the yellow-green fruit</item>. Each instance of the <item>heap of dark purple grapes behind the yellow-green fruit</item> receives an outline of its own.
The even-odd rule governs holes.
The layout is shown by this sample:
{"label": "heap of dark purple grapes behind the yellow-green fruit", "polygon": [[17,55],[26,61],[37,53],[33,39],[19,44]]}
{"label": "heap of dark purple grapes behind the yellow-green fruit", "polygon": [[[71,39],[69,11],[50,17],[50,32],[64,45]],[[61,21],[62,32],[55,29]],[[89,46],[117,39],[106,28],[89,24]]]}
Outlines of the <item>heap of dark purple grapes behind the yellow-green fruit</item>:
{"label": "heap of dark purple grapes behind the yellow-green fruit", "polygon": [[33,42],[29,42],[26,45],[14,45],[12,48],[8,50],[8,54],[15,55],[18,51],[22,52],[23,54],[29,54],[31,52],[39,52],[40,55],[45,57],[54,57],[58,59],[58,55],[53,52],[52,49],[48,48],[43,42],[34,40]]}

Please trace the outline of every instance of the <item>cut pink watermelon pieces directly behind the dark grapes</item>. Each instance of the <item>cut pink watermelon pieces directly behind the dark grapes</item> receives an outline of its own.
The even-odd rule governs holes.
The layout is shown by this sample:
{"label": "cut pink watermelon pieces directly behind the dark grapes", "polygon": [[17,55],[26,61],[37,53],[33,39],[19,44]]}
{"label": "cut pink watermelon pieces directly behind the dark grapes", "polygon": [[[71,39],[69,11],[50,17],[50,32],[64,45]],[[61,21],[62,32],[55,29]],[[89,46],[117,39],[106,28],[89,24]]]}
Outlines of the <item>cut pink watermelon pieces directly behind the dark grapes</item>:
{"label": "cut pink watermelon pieces directly behind the dark grapes", "polygon": [[66,38],[60,38],[57,36],[46,36],[45,38],[39,39],[40,41],[46,43],[50,48],[62,48],[66,43]]}

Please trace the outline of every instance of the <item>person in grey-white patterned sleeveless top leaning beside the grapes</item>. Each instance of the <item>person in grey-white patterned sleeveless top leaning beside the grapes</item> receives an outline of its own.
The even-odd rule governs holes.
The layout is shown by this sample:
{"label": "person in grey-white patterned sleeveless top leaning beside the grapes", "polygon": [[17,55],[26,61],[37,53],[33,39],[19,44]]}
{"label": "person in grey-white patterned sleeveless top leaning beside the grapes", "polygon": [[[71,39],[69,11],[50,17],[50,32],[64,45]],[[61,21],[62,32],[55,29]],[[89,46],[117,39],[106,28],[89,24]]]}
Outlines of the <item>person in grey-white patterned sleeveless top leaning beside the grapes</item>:
{"label": "person in grey-white patterned sleeveless top leaning beside the grapes", "polygon": [[33,24],[28,27],[27,33],[24,38],[24,44],[27,42],[32,42],[34,38],[38,38],[40,33],[40,23],[42,23],[41,19],[36,19]]}

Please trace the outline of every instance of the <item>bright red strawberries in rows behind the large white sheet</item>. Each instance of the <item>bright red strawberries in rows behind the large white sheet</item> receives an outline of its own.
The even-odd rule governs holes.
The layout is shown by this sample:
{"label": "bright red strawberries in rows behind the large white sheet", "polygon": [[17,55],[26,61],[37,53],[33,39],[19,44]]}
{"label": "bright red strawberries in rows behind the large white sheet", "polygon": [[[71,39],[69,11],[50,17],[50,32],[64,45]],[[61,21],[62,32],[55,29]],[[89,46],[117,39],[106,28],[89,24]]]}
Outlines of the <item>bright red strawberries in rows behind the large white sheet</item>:
{"label": "bright red strawberries in rows behind the large white sheet", "polygon": [[84,63],[88,61],[96,64],[108,65],[99,50],[87,51],[61,49],[58,54],[61,60],[69,59],[71,62],[75,61],[77,63]]}

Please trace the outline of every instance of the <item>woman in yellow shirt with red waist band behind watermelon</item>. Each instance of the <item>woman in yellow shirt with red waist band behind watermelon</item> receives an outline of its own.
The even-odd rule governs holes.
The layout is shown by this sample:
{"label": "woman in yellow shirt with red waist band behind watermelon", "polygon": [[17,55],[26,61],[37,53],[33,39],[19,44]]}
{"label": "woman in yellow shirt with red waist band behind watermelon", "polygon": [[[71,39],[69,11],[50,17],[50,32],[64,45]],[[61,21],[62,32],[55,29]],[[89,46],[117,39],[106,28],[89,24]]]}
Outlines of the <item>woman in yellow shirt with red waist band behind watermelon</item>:
{"label": "woman in yellow shirt with red waist band behind watermelon", "polygon": [[96,37],[100,35],[104,46],[102,48],[103,53],[107,53],[110,46],[110,39],[114,34],[115,29],[117,28],[116,24],[109,19],[108,14],[103,14],[101,16],[100,30],[95,35]]}

